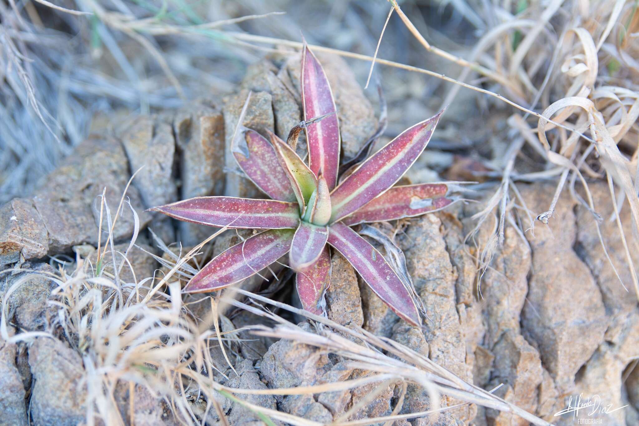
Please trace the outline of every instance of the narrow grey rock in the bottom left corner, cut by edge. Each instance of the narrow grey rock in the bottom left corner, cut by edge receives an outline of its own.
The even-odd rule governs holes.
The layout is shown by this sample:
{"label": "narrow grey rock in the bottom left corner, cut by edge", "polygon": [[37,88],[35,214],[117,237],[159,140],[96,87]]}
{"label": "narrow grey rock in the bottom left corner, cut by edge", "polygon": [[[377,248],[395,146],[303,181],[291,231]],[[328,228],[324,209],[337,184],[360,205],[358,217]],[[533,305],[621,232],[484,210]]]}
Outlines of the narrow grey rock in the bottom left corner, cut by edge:
{"label": "narrow grey rock in the bottom left corner, cut by edge", "polygon": [[[13,328],[8,328],[9,335],[14,334]],[[15,358],[17,346],[5,342],[0,337],[0,426],[26,426],[26,393],[22,386],[22,377],[16,368]]]}

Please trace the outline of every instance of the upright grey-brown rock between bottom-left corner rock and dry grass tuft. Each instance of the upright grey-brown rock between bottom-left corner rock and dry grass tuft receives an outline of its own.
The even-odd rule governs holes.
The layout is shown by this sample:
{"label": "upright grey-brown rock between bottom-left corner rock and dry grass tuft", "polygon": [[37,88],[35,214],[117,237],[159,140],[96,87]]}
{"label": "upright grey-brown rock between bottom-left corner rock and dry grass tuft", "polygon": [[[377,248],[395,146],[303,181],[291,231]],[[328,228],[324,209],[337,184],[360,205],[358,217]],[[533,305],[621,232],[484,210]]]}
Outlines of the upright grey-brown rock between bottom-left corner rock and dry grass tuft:
{"label": "upright grey-brown rock between bottom-left corner rock and dry grass tuft", "polygon": [[35,384],[31,418],[36,425],[75,426],[86,420],[82,358],[59,340],[38,337],[29,348]]}

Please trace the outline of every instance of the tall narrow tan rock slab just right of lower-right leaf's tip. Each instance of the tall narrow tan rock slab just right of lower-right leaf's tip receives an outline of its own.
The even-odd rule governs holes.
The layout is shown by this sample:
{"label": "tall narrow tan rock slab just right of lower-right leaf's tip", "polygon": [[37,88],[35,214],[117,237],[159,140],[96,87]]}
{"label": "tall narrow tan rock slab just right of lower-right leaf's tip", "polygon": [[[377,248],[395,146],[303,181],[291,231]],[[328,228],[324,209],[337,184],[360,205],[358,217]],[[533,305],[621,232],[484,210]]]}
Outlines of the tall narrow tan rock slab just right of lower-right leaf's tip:
{"label": "tall narrow tan rock slab just right of lower-right leaf's tip", "polygon": [[[404,250],[408,273],[424,302],[430,320],[422,330],[429,346],[429,358],[466,381],[472,381],[472,370],[466,365],[466,343],[456,307],[456,271],[450,262],[442,234],[442,221],[437,215],[426,215],[412,222],[406,234],[398,237]],[[447,398],[445,404],[454,400]],[[470,420],[470,408],[451,412],[461,420]]]}

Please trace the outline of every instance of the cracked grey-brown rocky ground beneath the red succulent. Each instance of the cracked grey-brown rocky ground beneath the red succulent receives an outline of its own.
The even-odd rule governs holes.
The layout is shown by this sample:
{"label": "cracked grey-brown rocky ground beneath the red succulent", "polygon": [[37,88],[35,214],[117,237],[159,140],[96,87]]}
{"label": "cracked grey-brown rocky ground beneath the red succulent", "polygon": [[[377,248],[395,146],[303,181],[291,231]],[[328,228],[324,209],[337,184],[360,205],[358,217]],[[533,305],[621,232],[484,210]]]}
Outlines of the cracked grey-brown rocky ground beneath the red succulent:
{"label": "cracked grey-brown rocky ground beneath the red succulent", "polygon": [[[348,158],[376,130],[376,111],[341,59],[319,57],[334,87]],[[114,243],[122,244],[122,251],[138,229],[137,245],[158,255],[161,252],[146,229],[153,229],[166,243],[181,241],[183,247],[204,240],[211,229],[173,223],[144,209],[200,195],[259,197],[256,188],[235,172],[229,158],[230,139],[249,91],[253,93],[245,119],[248,127],[259,132],[274,130],[285,137],[300,121],[298,63],[296,56],[258,63],[250,68],[236,94],[224,99],[199,100],[188,109],[96,126],[93,135],[43,181],[33,197],[13,199],[0,208],[0,268],[6,269],[0,277],[0,296],[8,321],[6,335],[46,330],[59,336],[58,340],[34,337],[17,344],[0,340],[0,424],[75,425],[86,421],[89,395],[83,378],[87,366],[81,353],[66,341],[56,305],[47,303],[56,287],[47,273],[59,265],[49,256],[67,262],[95,256],[101,214],[97,197],[103,188],[109,214],[114,215],[128,179],[144,166],[128,188],[124,213],[114,226]],[[298,146],[304,149],[304,144]],[[555,186],[535,183],[518,188],[521,200],[516,207],[526,218],[526,208],[532,217],[548,208]],[[528,229],[527,223],[522,231],[507,224],[504,242],[483,272],[478,259],[495,222],[488,220],[473,240],[466,240],[475,226],[470,216],[479,211],[477,204],[457,203],[445,211],[393,224],[400,230],[397,245],[404,250],[429,315],[422,330],[399,321],[339,254],[332,260],[328,318],[397,340],[482,388],[502,384],[497,395],[548,422],[576,424],[572,413],[555,413],[567,407],[570,397],[583,394],[583,398],[599,395],[601,404],[591,417],[601,419],[601,424],[639,424],[637,298],[617,224],[609,220],[613,210],[607,185],[594,181],[590,190],[597,213],[604,219],[604,245],[627,291],[606,259],[592,213],[564,191],[548,225],[537,222],[534,229]],[[620,215],[626,234],[631,235],[629,209],[622,209]],[[389,231],[390,227],[381,229]],[[235,232],[221,236],[204,256],[217,254],[234,240],[238,240]],[[633,248],[633,261],[639,264],[639,251]],[[128,259],[135,277],[125,273],[122,282],[153,277],[160,268],[137,247],[130,249]],[[37,274],[35,279],[27,278],[33,274]],[[24,284],[17,291],[6,294],[21,280]],[[259,278],[242,285],[250,291],[264,290]],[[290,288],[280,287],[272,297],[294,303],[291,294]],[[206,308],[202,309],[197,317],[206,315]],[[233,312],[229,318],[236,328],[259,323],[248,312]],[[309,324],[302,327],[312,330]],[[250,338],[246,331],[241,335]],[[219,360],[220,354],[213,354],[213,359]],[[332,383],[364,373],[345,366],[339,357],[289,340],[238,344],[233,361],[237,375],[229,369],[228,379],[216,379],[236,388]],[[221,360],[220,368],[224,365]],[[358,404],[373,387],[318,395],[251,395],[247,399],[328,423]],[[129,415],[132,391],[133,419]],[[400,391],[399,384],[388,386],[366,401],[351,420],[389,415]],[[180,423],[176,417],[180,414],[144,386],[122,383],[114,389],[114,401],[126,424]],[[452,405],[456,400],[444,397],[442,402]],[[207,424],[220,422],[216,411],[206,410],[202,399],[193,398],[190,404],[198,418],[208,413]],[[411,384],[399,413],[430,406],[427,393]],[[626,407],[614,411],[622,406]],[[231,400],[223,399],[221,409],[231,424],[261,421]],[[438,418],[396,422],[408,423],[527,424],[516,416],[474,404]]]}

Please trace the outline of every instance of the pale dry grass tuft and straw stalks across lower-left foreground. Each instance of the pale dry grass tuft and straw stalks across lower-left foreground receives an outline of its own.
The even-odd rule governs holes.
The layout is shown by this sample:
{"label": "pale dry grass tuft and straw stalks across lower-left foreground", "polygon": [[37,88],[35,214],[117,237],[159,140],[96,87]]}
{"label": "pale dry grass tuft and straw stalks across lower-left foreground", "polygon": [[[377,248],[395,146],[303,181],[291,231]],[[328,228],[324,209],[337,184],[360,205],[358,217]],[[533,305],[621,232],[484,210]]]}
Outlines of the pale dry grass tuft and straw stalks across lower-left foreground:
{"label": "pale dry grass tuft and straw stalks across lower-left foreground", "polygon": [[[109,211],[109,207],[104,203],[103,208],[104,211]],[[131,214],[136,216],[133,209]],[[107,214],[105,217],[110,222],[111,215]],[[108,228],[112,229],[112,224],[109,224]],[[161,279],[144,277],[137,282],[123,282],[118,278],[123,268],[131,268],[134,275],[135,270],[128,262],[126,252],[113,250],[109,232],[107,241],[111,248],[105,250],[102,260],[98,261],[102,263],[102,267],[93,265],[88,259],[82,259],[77,255],[71,270],[60,267],[56,273],[33,273],[17,280],[3,296],[0,336],[7,342],[28,342],[38,337],[63,339],[81,354],[84,363],[82,381],[86,383],[88,395],[85,404],[89,425],[95,424],[96,419],[101,419],[108,425],[125,423],[114,398],[114,390],[118,383],[128,383],[130,386],[142,384],[153,395],[166,400],[176,420],[183,424],[202,424],[206,413],[219,407],[226,398],[250,409],[267,424],[273,424],[272,420],[279,420],[293,425],[320,425],[318,422],[245,402],[242,395],[318,394],[353,389],[369,383],[379,383],[379,391],[390,384],[399,384],[404,392],[406,384],[417,384],[429,392],[434,402],[433,408],[420,413],[397,415],[401,409],[401,405],[398,404],[392,415],[350,421],[350,415],[366,403],[367,400],[364,400],[344,413],[335,421],[335,425],[392,422],[459,407],[440,407],[440,395],[450,395],[467,403],[516,413],[535,425],[550,424],[467,383],[426,356],[393,340],[376,337],[362,328],[346,328],[326,317],[316,316],[259,294],[238,289],[236,294],[227,294],[221,300],[219,296],[213,295],[208,298],[212,305],[210,317],[197,321],[189,306],[182,301],[183,275],[188,277],[192,271],[187,262],[224,230],[215,232],[188,254],[179,257],[176,262],[165,260],[165,265],[172,267]],[[129,248],[133,247],[135,238],[137,234]],[[105,266],[112,266],[113,273],[105,273]],[[5,270],[3,273],[11,271]],[[182,272],[183,275],[178,272]],[[24,331],[10,336],[8,301],[20,285],[39,276],[49,278],[57,285],[52,291],[49,303],[58,308],[63,330],[61,333],[54,333],[53,329]],[[349,367],[365,370],[367,374],[358,379],[295,388],[255,390],[223,386],[215,381],[214,373],[224,376],[226,368],[216,367],[211,348],[220,347],[228,366],[235,373],[228,355],[232,351],[232,345],[240,340],[234,337],[238,330],[235,330],[235,326],[226,317],[222,317],[226,321],[226,327],[219,323],[220,303],[247,310],[265,317],[265,323],[276,324],[273,327],[251,326],[249,329],[255,335],[289,339],[318,347],[325,353],[342,356],[348,361]],[[266,305],[307,317],[314,332],[305,331],[274,314]],[[338,331],[355,339],[346,339]],[[190,404],[202,394],[207,402],[204,415],[194,413]],[[371,393],[371,398],[374,395],[376,391]],[[224,418],[221,411],[218,411],[218,415]]]}

